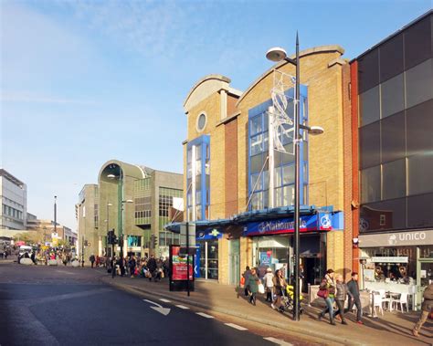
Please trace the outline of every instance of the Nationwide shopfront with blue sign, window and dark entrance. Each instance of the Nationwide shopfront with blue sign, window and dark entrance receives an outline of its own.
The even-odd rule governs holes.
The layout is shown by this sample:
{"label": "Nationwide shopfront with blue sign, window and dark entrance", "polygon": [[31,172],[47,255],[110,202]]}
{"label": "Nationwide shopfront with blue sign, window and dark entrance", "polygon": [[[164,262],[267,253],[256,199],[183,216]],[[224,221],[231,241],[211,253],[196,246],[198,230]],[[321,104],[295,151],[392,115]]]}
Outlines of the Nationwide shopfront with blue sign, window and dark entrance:
{"label": "Nationwide shopfront with blue sign, window and dark entrance", "polygon": [[[326,271],[326,234],[333,229],[333,215],[314,214],[301,216],[300,257],[302,290],[308,284],[316,285]],[[281,218],[248,223],[244,236],[253,239],[252,263],[259,272],[270,267],[272,271],[282,269],[285,278],[291,277],[294,267],[294,225],[292,218]],[[262,274],[262,273],[260,273]]]}

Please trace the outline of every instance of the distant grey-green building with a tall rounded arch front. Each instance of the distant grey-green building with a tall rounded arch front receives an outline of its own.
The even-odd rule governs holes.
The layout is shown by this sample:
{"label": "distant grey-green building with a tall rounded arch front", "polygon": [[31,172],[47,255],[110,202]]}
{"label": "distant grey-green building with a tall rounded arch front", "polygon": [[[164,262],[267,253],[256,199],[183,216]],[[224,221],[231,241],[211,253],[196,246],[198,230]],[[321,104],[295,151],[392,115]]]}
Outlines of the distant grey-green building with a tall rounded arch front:
{"label": "distant grey-green building with a tall rounded arch front", "polygon": [[164,225],[176,216],[174,209],[183,214],[182,174],[111,160],[102,165],[98,180],[84,186],[77,204],[79,242],[84,236],[88,243],[85,259],[90,252],[111,254],[111,229],[123,240],[114,246],[117,254],[168,256],[168,246],[179,244],[179,236]]}

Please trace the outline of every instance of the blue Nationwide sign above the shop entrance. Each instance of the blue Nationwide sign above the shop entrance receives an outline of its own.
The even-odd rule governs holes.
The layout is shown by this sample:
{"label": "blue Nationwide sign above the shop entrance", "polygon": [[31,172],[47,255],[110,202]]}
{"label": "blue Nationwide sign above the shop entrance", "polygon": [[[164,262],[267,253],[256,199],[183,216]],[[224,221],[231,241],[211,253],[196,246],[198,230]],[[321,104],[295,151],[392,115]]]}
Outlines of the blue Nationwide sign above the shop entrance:
{"label": "blue Nationwide sign above the shop entrance", "polygon": [[[252,222],[244,227],[244,236],[278,235],[294,232],[293,218]],[[300,218],[300,232],[330,231],[333,229],[332,215],[314,214]]]}

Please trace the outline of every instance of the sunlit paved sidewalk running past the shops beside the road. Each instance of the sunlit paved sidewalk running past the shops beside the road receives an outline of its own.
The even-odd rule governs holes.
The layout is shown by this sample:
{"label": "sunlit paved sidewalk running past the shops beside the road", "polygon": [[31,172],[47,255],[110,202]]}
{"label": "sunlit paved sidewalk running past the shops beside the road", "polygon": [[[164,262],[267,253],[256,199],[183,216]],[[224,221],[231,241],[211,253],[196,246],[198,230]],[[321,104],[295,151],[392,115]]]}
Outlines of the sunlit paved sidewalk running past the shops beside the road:
{"label": "sunlit paved sidewalk running past the shops beside the road", "polygon": [[336,326],[332,326],[326,319],[318,321],[319,309],[313,307],[305,307],[300,322],[291,320],[287,313],[280,314],[271,309],[263,297],[259,297],[257,306],[254,307],[248,304],[243,289],[234,286],[197,280],[195,291],[187,297],[186,292],[170,292],[167,279],[155,283],[144,278],[113,279],[107,274],[106,277],[102,277],[102,281],[118,288],[151,295],[156,299],[170,299],[177,303],[321,338],[324,342],[332,341],[346,345],[433,345],[431,321],[424,325],[419,338],[412,336],[411,330],[417,321],[417,313],[385,312],[384,316],[379,315],[377,319],[365,317],[364,325],[356,324],[354,314],[349,313],[346,315],[349,325],[337,323]]}

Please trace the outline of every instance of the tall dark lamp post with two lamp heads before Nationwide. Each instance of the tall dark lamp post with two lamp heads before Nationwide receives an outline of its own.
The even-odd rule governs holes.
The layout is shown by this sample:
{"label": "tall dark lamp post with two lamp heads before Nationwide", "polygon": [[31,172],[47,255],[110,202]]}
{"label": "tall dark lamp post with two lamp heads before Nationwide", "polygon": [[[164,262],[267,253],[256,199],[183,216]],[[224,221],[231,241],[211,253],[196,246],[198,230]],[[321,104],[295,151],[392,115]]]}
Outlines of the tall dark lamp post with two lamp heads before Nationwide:
{"label": "tall dark lamp post with two lamp heads before Nationwide", "polygon": [[288,58],[286,51],[281,47],[270,48],[266,52],[266,58],[273,62],[285,60],[296,67],[295,83],[295,119],[294,119],[294,145],[295,145],[295,204],[294,204],[294,228],[295,228],[295,266],[294,266],[294,307],[293,320],[300,320],[300,129],[308,131],[312,135],[322,134],[319,126],[305,126],[300,123],[300,45],[298,33],[296,33],[296,58]]}

